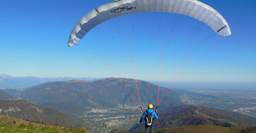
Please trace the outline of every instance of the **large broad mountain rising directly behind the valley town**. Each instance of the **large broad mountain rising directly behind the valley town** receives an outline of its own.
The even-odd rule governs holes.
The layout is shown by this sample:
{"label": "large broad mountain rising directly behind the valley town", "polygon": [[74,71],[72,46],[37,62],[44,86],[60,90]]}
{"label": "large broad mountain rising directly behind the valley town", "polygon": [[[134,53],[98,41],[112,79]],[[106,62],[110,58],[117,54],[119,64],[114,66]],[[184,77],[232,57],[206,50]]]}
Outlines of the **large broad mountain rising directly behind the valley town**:
{"label": "large broad mountain rising directly behind the valley town", "polygon": [[[123,78],[125,85],[133,96],[137,96],[134,79]],[[146,81],[137,80],[141,103],[155,103],[158,96],[158,86]],[[160,87],[160,96],[166,88]],[[120,82],[119,78],[106,78],[97,81],[71,80],[64,82],[47,82],[26,89],[16,96],[37,105],[45,103],[73,102],[90,108],[114,107],[119,104],[136,104],[131,94]],[[137,98],[137,97],[136,97]],[[169,90],[162,106],[183,104],[177,92]]]}

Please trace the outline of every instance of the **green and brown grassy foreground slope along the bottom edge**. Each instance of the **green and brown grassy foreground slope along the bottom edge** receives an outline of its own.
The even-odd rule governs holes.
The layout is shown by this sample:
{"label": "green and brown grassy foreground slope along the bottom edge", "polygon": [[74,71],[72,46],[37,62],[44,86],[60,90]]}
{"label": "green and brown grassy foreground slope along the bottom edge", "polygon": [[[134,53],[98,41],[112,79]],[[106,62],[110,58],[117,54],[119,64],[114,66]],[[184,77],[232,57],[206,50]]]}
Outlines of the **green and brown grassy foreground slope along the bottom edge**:
{"label": "green and brown grassy foreground slope along the bottom edge", "polygon": [[[13,121],[16,124],[13,124]],[[31,122],[32,123],[32,122]],[[59,126],[45,126],[18,118],[0,115],[1,133],[86,133],[85,129],[67,129]],[[123,130],[113,130],[112,133],[128,133]],[[256,133],[256,126],[245,128],[226,128],[214,125],[190,125],[171,129],[157,129],[155,133]]]}

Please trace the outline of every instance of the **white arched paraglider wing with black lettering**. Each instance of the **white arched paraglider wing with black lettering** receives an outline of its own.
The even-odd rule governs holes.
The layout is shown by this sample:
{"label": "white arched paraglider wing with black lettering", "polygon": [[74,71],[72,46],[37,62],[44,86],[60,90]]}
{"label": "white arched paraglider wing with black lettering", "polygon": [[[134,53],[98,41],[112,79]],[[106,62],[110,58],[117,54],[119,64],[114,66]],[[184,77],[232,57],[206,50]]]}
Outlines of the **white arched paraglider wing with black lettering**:
{"label": "white arched paraglider wing with black lettering", "polygon": [[215,9],[197,0],[115,0],[82,17],[71,31],[67,45],[77,45],[92,28],[115,17],[140,12],[179,13],[198,19],[221,36],[231,35],[226,20]]}

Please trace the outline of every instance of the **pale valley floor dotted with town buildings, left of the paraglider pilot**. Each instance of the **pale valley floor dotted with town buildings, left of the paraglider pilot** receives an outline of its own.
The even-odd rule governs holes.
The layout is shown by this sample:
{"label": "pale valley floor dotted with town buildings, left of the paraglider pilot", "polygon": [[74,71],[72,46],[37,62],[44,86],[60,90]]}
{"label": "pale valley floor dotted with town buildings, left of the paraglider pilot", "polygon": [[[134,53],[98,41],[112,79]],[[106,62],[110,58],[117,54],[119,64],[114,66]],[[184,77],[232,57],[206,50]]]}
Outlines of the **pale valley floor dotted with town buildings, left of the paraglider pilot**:
{"label": "pale valley floor dotted with town buildings, left of the paraglider pilot", "polygon": [[85,122],[89,126],[89,132],[102,133],[113,129],[129,130],[139,122],[142,113],[138,106],[120,105],[117,108],[98,108],[72,115],[75,119]]}

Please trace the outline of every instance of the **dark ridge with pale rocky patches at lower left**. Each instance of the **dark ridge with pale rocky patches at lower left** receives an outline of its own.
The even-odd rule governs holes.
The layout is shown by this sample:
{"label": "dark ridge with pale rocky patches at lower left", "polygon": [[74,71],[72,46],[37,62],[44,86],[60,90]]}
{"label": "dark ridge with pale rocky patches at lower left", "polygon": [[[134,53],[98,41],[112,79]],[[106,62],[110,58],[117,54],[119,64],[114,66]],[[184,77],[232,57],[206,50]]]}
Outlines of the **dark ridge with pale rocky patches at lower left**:
{"label": "dark ridge with pale rocky patches at lower left", "polygon": [[68,117],[53,107],[42,108],[26,100],[0,100],[0,114],[20,118],[22,120],[28,119],[31,121],[58,123],[66,127],[79,125],[77,120]]}

